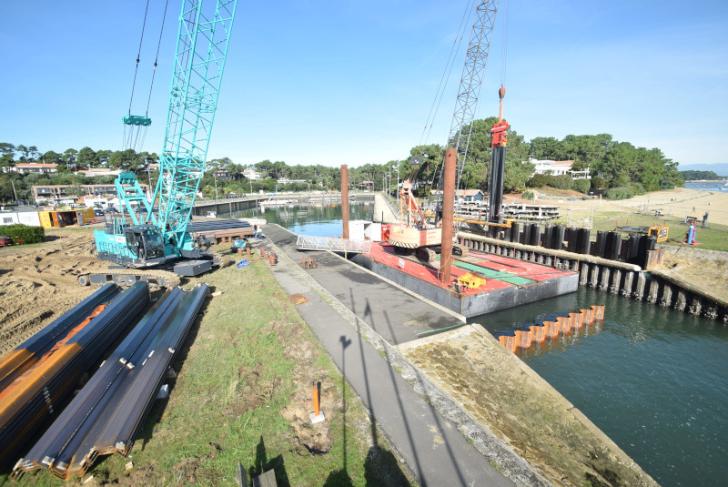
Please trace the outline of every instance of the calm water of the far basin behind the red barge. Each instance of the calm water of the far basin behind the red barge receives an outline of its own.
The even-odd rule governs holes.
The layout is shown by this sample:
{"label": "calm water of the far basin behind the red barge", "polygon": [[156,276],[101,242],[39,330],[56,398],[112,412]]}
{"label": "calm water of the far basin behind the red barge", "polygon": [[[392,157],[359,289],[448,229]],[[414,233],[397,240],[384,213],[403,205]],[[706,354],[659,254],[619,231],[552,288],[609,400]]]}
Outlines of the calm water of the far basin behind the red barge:
{"label": "calm water of the far basin behind the red barge", "polygon": [[[371,220],[374,202],[349,202],[349,220]],[[339,237],[341,226],[341,205],[339,203],[296,204],[261,209],[246,209],[232,213],[219,212],[219,218],[266,218],[268,223],[278,223],[298,235],[314,237]]]}

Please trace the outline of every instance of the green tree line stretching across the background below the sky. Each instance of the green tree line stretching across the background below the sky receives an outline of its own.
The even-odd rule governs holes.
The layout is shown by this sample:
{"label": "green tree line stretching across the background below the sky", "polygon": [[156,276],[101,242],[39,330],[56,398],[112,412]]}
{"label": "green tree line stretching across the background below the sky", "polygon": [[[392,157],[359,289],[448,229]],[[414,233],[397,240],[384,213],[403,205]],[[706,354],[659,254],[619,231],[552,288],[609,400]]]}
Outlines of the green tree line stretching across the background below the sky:
{"label": "green tree line stretching across the background below the sky", "polygon": [[[490,127],[497,121],[495,117],[474,120],[467,157],[462,170],[460,188],[487,188],[487,175],[490,169]],[[466,130],[470,127],[466,127]],[[452,141],[450,141],[451,143]],[[393,159],[384,164],[363,164],[349,167],[349,184],[353,188],[371,187],[375,190],[397,190],[397,181],[410,179],[417,182],[420,195],[429,194],[430,189],[437,188],[440,178],[440,165],[444,157],[445,147],[439,144],[416,146],[410,154],[401,159]],[[533,178],[534,165],[529,161],[535,159],[572,160],[572,169],[591,170],[590,188],[581,180],[573,181],[570,177]],[[18,163],[39,162],[58,164],[58,173],[51,175],[26,175],[25,178],[7,167]],[[30,186],[40,184],[108,184],[113,177],[86,178],[76,174],[79,168],[109,167],[134,171],[141,181],[157,180],[156,171],[149,171],[150,164],[158,162],[156,153],[126,150],[94,150],[91,147],[81,149],[68,148],[64,152],[48,150],[41,152],[35,146],[14,146],[0,143],[0,198],[12,200],[29,198]],[[342,161],[346,163],[346,161]],[[255,164],[239,164],[229,157],[207,161],[208,170],[200,183],[203,195],[207,197],[225,196],[230,193],[243,194],[251,190],[258,192],[272,191],[305,191],[313,189],[340,188],[339,167],[321,164],[289,166],[284,161],[263,160]],[[245,178],[246,168],[257,170],[262,179]],[[633,193],[674,188],[681,186],[683,178],[677,170],[678,163],[664,157],[659,148],[647,149],[634,147],[629,142],[613,140],[609,134],[595,136],[566,136],[559,140],[555,137],[535,137],[525,141],[512,127],[509,131],[506,148],[506,164],[504,189],[506,192],[518,192],[525,188],[540,188],[553,185],[557,188],[576,189],[586,192],[592,188],[630,188]],[[217,178],[225,171],[225,178]],[[278,184],[278,179],[300,179],[302,183]],[[369,184],[365,182],[369,181]],[[15,193],[13,187],[15,186]],[[616,193],[615,193],[616,194]]]}

